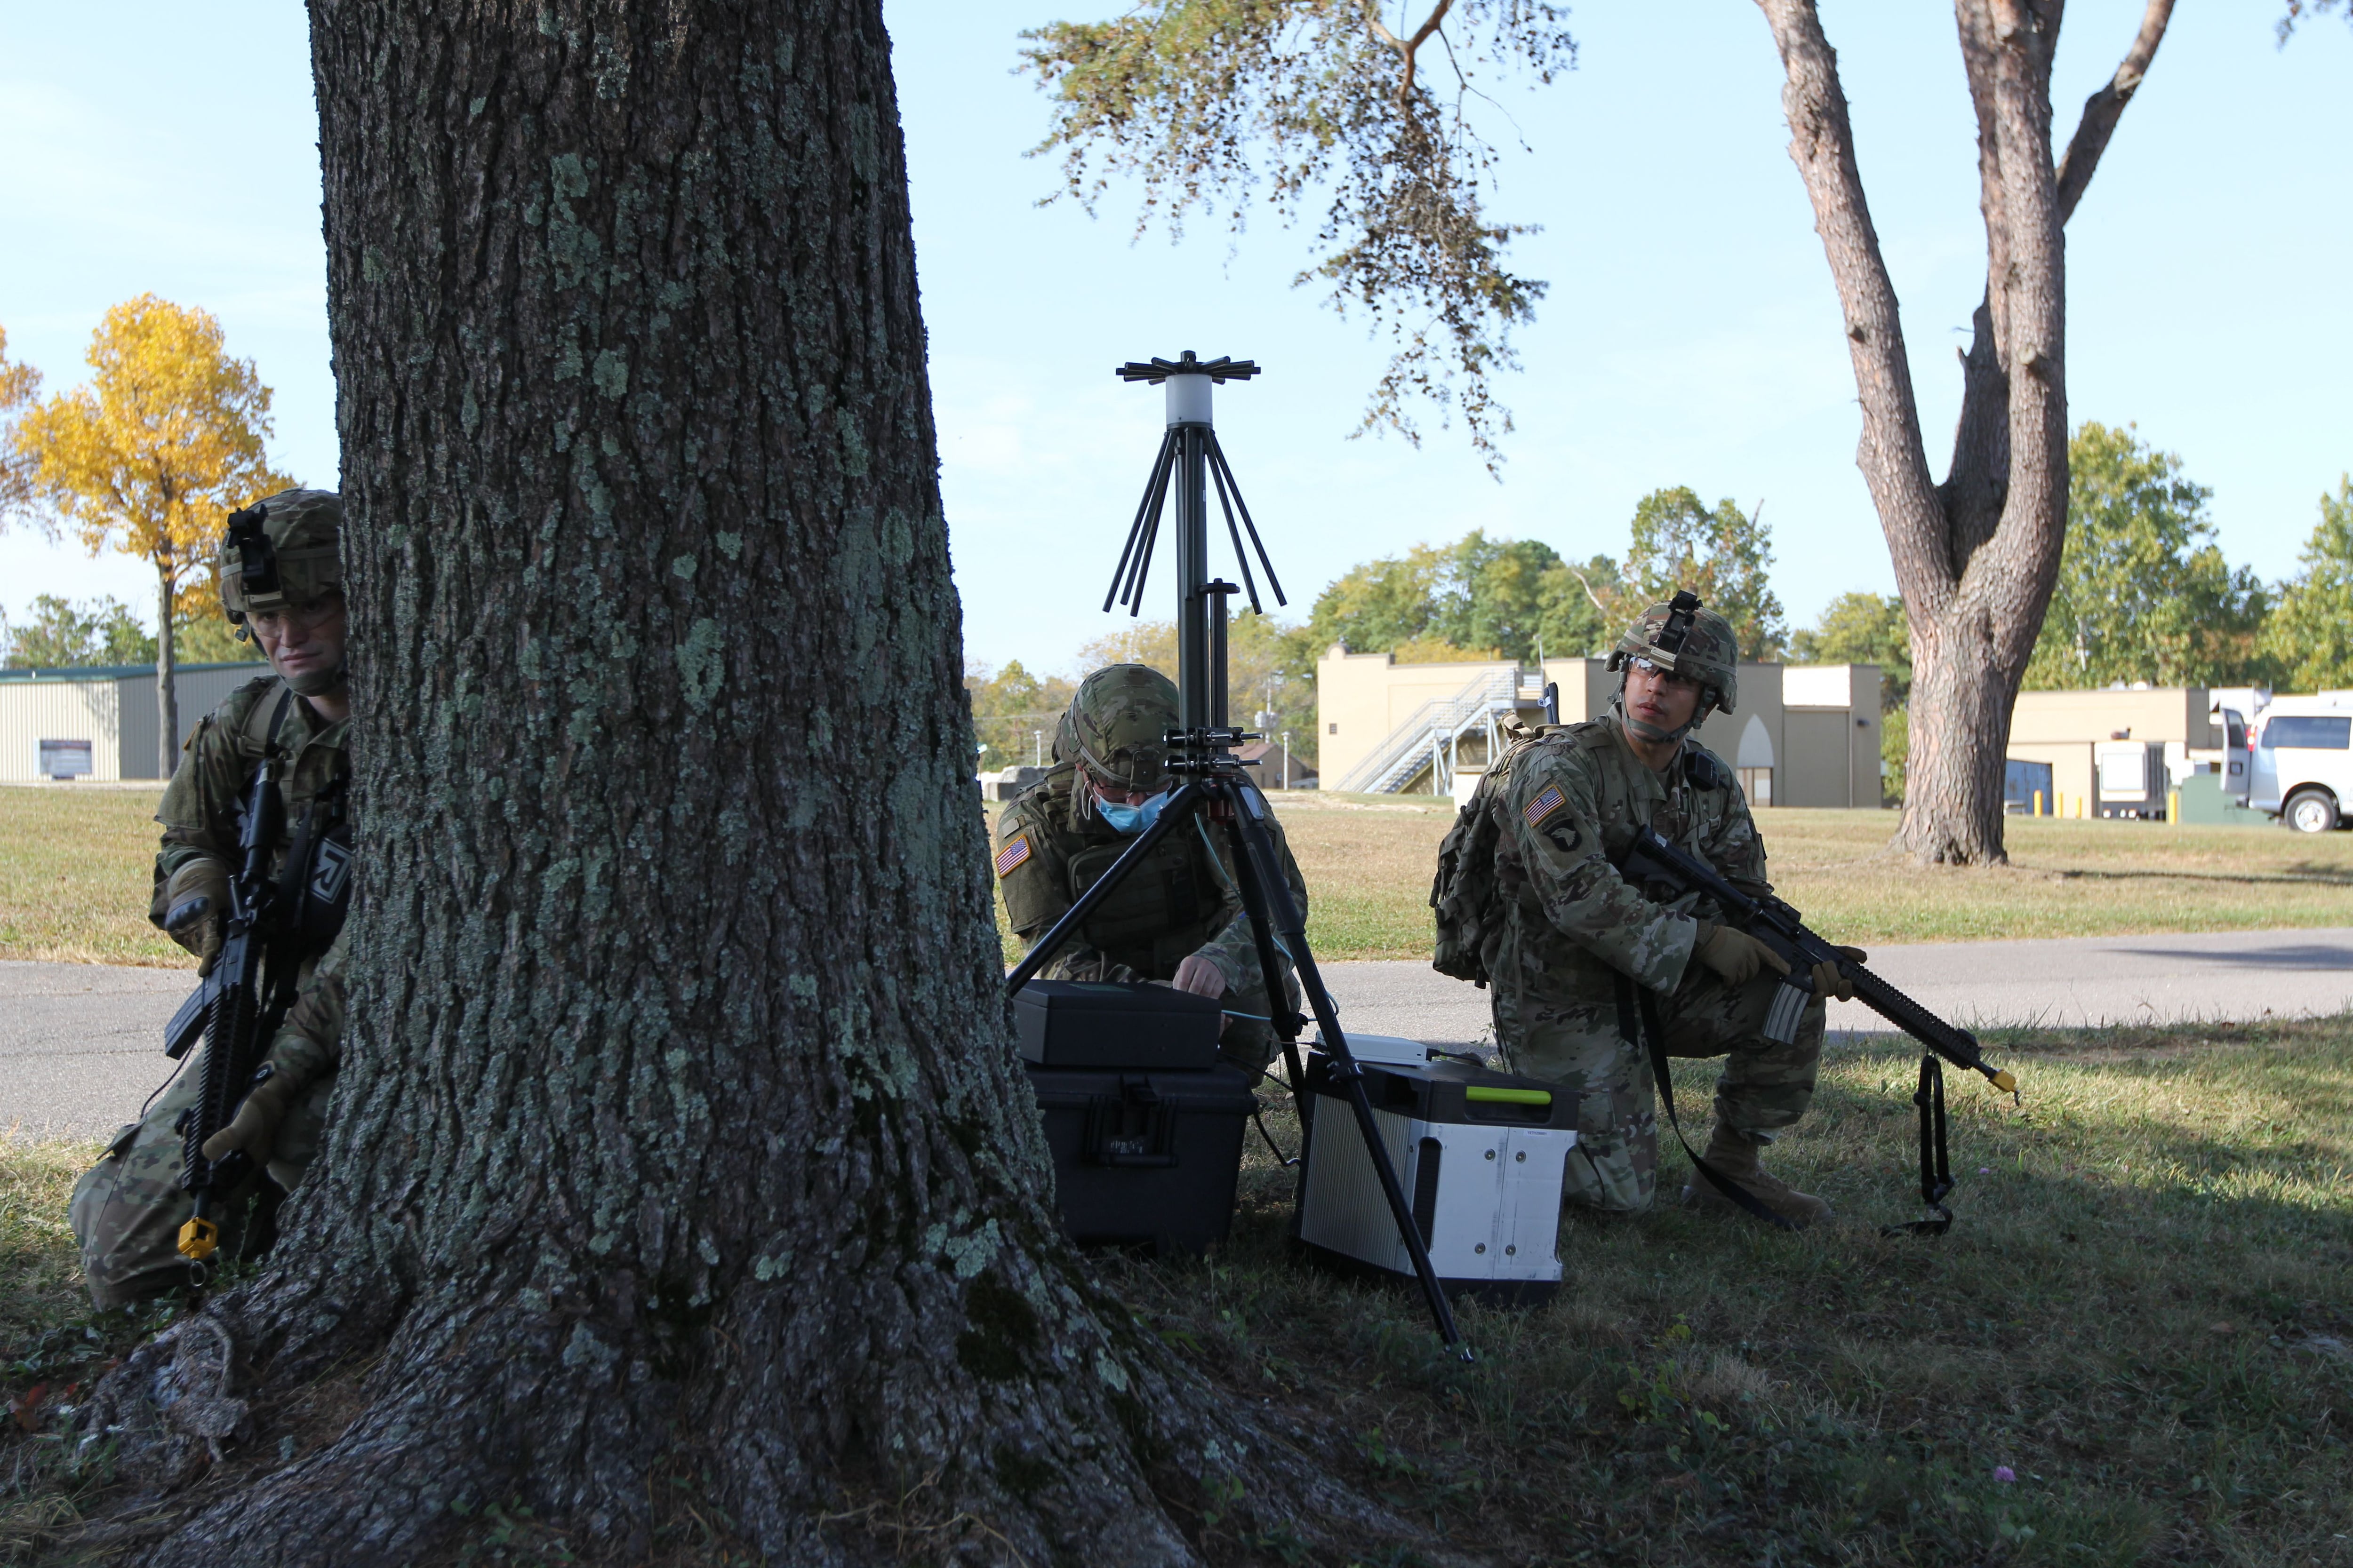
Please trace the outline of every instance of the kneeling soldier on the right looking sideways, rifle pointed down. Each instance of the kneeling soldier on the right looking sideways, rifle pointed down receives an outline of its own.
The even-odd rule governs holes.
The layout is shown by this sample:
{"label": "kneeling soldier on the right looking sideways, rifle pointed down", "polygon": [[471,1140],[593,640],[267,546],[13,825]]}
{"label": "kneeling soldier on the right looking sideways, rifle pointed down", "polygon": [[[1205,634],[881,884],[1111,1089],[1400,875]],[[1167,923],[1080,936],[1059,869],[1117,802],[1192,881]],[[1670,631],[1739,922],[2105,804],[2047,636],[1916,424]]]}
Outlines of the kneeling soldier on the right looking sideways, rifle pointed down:
{"label": "kneeling soldier on the right looking sideways, rifle pointed down", "polygon": [[[1659,1121],[1649,1058],[1633,1039],[1640,997],[1631,987],[1642,987],[1668,1056],[1727,1058],[1704,1159],[1784,1218],[1809,1225],[1831,1206],[1767,1175],[1758,1150],[1812,1103],[1821,992],[1852,994],[1849,983],[1835,966],[1817,971],[1821,985],[1795,1044],[1777,1046],[1762,1027],[1786,964],[1718,924],[1713,900],[1659,905],[1614,867],[1633,835],[1654,827],[1734,886],[1769,886],[1739,780],[1689,738],[1711,708],[1732,712],[1737,701],[1732,625],[1697,602],[1682,616],[1657,604],[1619,642],[1609,668],[1621,672],[1609,712],[1515,745],[1489,795],[1504,907],[1501,943],[1487,964],[1497,1041],[1513,1072],[1579,1095],[1569,1201],[1647,1208]],[[1682,1199],[1734,1211],[1704,1180]]]}

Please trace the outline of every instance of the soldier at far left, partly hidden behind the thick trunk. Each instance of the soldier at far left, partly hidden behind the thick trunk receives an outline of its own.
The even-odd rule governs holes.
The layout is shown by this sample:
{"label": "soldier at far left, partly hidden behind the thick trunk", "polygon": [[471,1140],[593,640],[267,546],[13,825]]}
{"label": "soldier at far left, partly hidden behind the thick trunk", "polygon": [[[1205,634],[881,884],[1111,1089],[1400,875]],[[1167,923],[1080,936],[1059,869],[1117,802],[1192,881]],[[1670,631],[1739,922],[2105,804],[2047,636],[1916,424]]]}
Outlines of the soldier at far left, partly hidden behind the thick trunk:
{"label": "soldier at far left, partly hidden behind the thick trunk", "polygon": [[[188,736],[179,771],[165,788],[155,820],[155,896],[148,919],[165,926],[198,973],[212,973],[228,922],[228,882],[238,856],[238,809],[264,757],[280,762],[285,832],[273,849],[273,875],[285,872],[296,830],[313,820],[308,886],[332,891],[336,907],[348,891],[348,825],[344,792],[351,773],[351,696],[344,663],[344,574],[339,562],[341,501],[332,491],[289,489],[259,505],[271,543],[278,590],[247,592],[245,550],[224,536],[219,559],[221,607],[261,642],[271,675],[240,686]],[[339,919],[339,917],[336,917]],[[167,924],[169,922],[169,924]],[[332,943],[332,945],[329,945]],[[325,952],[322,952],[325,950]],[[296,1001],[271,1037],[266,1077],[256,1074],[231,1126],[205,1143],[207,1159],[231,1150],[252,1154],[254,1182],[216,1213],[221,1255],[252,1258],[275,1234],[275,1199],[301,1182],[318,1152],[327,1095],[341,1060],[344,943],[339,933],[296,936]],[[282,976],[280,976],[282,980]],[[273,976],[264,973],[264,994]],[[155,1105],[115,1133],[104,1159],[73,1190],[73,1234],[82,1272],[99,1307],[118,1307],[188,1284],[179,1227],[193,1208],[181,1190],[179,1121],[198,1103],[202,1048],[191,1051]]]}

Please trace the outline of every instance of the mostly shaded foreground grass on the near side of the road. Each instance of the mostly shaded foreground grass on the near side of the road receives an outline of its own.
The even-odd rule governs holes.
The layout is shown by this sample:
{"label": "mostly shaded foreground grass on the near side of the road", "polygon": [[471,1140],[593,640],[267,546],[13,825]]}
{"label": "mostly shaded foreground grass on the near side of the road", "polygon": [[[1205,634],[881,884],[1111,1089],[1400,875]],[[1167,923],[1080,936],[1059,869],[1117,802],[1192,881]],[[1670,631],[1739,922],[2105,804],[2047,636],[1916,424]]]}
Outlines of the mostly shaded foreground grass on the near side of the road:
{"label": "mostly shaded foreground grass on the near side of the road", "polygon": [[[1461,1307],[1471,1366],[1412,1293],[1287,1255],[1292,1178],[1254,1135],[1212,1260],[1104,1269],[1231,1399],[1473,1561],[2353,1561],[2353,1018],[1988,1046],[2024,1105],[1955,1081],[1948,1237],[1878,1232],[1918,1213],[1915,1058],[1833,1048],[1769,1159],[1840,1220],[1572,1213],[1551,1305]],[[1680,1063],[1678,1100],[1713,1074]],[[78,1300],[64,1201],[92,1152],[0,1147],[9,1401],[144,1326]],[[0,1483],[35,1441],[0,1425]],[[1193,1521],[1212,1559],[1301,1561],[1252,1533],[1249,1486]],[[0,1561],[82,1505],[0,1488]]]}

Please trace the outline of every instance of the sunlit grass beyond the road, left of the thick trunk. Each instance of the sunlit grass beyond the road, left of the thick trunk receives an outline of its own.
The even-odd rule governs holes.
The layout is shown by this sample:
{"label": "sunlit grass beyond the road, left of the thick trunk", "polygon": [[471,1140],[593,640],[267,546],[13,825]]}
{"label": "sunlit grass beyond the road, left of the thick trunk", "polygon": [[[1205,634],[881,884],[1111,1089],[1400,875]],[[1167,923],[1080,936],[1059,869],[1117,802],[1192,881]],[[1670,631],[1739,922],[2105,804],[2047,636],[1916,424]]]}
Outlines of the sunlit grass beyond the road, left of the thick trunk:
{"label": "sunlit grass beyond the road, left of the thick trunk", "polygon": [[0,788],[0,959],[195,966],[146,917],[158,799],[162,785]]}

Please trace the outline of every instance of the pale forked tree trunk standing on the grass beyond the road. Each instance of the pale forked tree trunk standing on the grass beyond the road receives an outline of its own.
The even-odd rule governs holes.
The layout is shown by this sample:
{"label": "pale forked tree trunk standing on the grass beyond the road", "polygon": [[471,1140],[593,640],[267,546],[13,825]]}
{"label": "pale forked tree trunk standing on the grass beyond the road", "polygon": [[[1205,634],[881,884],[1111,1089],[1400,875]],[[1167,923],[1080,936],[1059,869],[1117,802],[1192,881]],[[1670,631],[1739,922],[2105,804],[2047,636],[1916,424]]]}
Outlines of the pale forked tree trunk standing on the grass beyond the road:
{"label": "pale forked tree trunk standing on the grass beyond the road", "polygon": [[1962,355],[1944,484],[1927,470],[1894,282],[1854,158],[1838,54],[1812,0],[1758,0],[1788,82],[1791,158],[1847,315],[1864,411],[1857,463],[1887,534],[1913,639],[1911,757],[1897,844],[1920,860],[2002,851],[2009,708],[2033,658],[2066,538],[2066,240],[2061,226],[2165,38],[2148,0],[2115,78],[2052,158],[2059,0],[1955,0],[1977,108],[1986,301]]}

